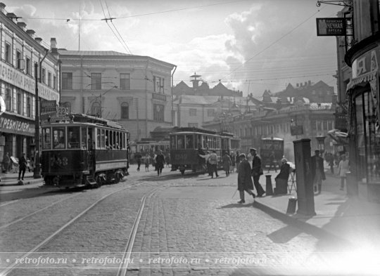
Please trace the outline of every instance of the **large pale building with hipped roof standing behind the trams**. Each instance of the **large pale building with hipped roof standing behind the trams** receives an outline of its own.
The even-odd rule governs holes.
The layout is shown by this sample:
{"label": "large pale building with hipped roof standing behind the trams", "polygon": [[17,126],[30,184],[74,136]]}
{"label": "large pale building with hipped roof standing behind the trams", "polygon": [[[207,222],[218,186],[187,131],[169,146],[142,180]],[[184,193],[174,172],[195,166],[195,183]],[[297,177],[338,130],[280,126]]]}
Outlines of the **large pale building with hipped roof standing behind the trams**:
{"label": "large pale building with hipped roof standing behind the trams", "polygon": [[71,112],[118,121],[131,140],[172,126],[171,78],[175,65],[115,51],[59,49],[61,105]]}

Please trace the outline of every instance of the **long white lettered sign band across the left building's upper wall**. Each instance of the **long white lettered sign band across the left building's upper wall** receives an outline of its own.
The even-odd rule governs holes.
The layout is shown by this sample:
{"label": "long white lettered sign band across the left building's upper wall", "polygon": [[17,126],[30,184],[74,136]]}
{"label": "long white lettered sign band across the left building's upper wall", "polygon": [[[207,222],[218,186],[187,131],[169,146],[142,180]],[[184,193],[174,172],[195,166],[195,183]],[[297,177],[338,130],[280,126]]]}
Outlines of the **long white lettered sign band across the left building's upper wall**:
{"label": "long white lettered sign band across the left building's upper wall", "polygon": [[[24,74],[20,70],[11,67],[10,65],[1,60],[0,79],[2,81],[8,82],[9,84],[17,86],[18,88],[21,88],[27,92],[30,92],[33,95],[35,94],[35,80],[27,74]],[[46,100],[58,101],[59,98],[59,94],[57,91],[41,83],[38,83],[38,96]]]}

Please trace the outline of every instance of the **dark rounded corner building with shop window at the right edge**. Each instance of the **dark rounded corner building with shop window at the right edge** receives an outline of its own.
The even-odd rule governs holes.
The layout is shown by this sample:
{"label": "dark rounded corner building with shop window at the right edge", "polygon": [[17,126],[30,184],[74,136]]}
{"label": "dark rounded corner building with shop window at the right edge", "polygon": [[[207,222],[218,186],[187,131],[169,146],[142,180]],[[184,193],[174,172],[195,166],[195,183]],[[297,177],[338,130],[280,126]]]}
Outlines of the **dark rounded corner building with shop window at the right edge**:
{"label": "dark rounded corner building with shop window at the right edge", "polygon": [[380,201],[380,1],[353,0],[353,43],[345,61],[352,69],[347,85],[350,169],[369,200]]}

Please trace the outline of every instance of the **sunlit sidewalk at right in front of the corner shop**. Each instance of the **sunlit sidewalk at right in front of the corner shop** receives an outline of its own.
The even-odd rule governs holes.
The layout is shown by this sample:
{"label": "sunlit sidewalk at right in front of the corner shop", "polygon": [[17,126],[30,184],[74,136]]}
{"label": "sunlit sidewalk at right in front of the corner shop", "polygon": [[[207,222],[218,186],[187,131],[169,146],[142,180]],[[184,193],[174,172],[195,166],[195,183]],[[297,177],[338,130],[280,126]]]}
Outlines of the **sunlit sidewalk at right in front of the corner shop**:
{"label": "sunlit sidewalk at right in front of the corner shop", "polygon": [[[271,171],[269,174],[274,188],[277,173]],[[364,196],[348,197],[346,187],[344,191],[339,190],[340,178],[327,170],[326,177],[327,180],[322,182],[322,193],[314,197],[316,216],[286,214],[289,197],[297,197],[294,190],[288,195],[256,198],[254,206],[289,223],[302,224],[315,232],[346,239],[357,247],[380,250],[380,204],[368,202]],[[260,178],[260,183],[265,188],[265,177]]]}

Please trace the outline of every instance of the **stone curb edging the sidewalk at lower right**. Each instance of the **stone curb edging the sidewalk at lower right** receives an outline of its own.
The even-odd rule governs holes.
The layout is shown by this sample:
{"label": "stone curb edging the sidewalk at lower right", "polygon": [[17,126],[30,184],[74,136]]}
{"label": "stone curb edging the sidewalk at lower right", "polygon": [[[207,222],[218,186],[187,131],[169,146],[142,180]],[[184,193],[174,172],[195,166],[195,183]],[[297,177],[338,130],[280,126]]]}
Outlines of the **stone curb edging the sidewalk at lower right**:
{"label": "stone curb edging the sidewalk at lower right", "polygon": [[[344,244],[348,244],[348,246],[353,247],[353,243],[350,242],[348,239],[345,239],[343,237],[339,237],[335,235],[332,232],[329,232],[327,230],[324,230],[322,228],[319,228],[315,225],[312,225],[310,223],[307,223],[305,221],[301,221],[302,218],[295,218],[294,216],[289,216],[286,213],[283,213],[275,208],[272,208],[271,206],[268,206],[267,204],[263,204],[260,202],[255,202],[253,203],[253,207],[260,209],[261,211],[264,211],[265,213],[269,214],[273,218],[277,218],[280,221],[288,224],[288,225],[295,225],[297,228],[300,228],[307,232],[310,235],[313,235],[315,237],[321,238],[329,238],[329,239],[336,239],[339,242],[343,242]],[[303,216],[303,218],[310,218],[308,216]]]}

